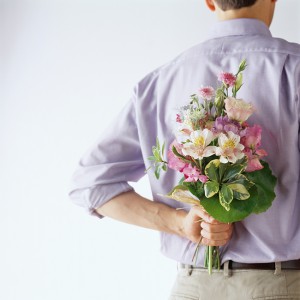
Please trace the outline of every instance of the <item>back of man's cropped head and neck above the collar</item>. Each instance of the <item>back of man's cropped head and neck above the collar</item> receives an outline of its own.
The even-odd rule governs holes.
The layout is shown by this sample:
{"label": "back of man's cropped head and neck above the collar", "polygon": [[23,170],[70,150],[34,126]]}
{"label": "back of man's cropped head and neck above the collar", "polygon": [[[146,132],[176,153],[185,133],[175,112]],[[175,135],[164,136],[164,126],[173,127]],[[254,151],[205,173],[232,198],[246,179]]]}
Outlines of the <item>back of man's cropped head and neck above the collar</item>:
{"label": "back of man's cropped head and neck above the collar", "polygon": [[206,0],[208,8],[216,11],[219,20],[250,18],[271,25],[277,0]]}

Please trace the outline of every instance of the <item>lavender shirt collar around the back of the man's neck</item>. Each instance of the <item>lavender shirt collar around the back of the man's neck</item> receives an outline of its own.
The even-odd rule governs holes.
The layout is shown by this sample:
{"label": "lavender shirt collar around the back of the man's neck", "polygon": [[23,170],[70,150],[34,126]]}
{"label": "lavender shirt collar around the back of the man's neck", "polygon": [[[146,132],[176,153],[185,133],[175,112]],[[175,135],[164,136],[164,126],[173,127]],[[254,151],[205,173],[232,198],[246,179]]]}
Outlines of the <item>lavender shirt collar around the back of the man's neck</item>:
{"label": "lavender shirt collar around the back of the man's neck", "polygon": [[232,19],[219,21],[213,27],[208,38],[219,38],[232,35],[263,35],[272,37],[269,28],[257,19]]}

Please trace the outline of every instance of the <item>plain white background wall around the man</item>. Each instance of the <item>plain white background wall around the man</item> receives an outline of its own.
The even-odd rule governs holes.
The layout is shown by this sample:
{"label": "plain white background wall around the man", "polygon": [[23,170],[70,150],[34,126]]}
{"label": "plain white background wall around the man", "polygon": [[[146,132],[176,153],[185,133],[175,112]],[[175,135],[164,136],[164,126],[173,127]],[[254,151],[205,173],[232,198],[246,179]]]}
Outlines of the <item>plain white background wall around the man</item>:
{"label": "plain white background wall around the man", "polygon": [[[299,43],[299,14],[278,1],[274,36]],[[69,181],[134,84],[214,22],[202,0],[0,0],[0,299],[167,299],[158,234],[89,216]]]}

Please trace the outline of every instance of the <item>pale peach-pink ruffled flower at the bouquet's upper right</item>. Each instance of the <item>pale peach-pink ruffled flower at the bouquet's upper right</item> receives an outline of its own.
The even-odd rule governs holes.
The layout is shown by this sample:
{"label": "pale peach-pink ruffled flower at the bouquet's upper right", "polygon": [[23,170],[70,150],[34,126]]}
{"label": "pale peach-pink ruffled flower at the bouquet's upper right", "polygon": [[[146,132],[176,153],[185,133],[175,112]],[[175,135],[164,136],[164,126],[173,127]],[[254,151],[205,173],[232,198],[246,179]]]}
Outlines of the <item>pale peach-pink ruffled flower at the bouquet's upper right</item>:
{"label": "pale peach-pink ruffled flower at the bouquet's upper right", "polygon": [[251,103],[247,103],[242,99],[228,97],[224,100],[225,109],[229,119],[244,122],[254,112],[254,107]]}

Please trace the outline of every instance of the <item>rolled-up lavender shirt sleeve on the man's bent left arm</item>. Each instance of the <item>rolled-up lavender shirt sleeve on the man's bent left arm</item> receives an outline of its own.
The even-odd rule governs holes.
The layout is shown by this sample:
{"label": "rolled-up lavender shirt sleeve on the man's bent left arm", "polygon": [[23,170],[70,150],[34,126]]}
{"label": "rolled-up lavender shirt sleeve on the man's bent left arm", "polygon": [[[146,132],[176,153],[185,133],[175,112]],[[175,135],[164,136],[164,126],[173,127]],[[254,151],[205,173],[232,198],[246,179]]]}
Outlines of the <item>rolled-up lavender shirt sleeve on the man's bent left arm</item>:
{"label": "rolled-up lavender shirt sleeve on the man's bent left arm", "polygon": [[135,94],[98,141],[81,158],[72,176],[71,200],[92,215],[115,196],[133,190],[128,181],[145,174],[136,126]]}

